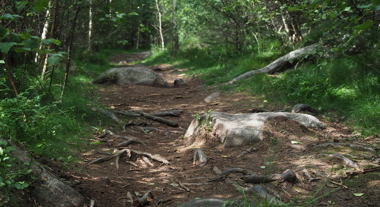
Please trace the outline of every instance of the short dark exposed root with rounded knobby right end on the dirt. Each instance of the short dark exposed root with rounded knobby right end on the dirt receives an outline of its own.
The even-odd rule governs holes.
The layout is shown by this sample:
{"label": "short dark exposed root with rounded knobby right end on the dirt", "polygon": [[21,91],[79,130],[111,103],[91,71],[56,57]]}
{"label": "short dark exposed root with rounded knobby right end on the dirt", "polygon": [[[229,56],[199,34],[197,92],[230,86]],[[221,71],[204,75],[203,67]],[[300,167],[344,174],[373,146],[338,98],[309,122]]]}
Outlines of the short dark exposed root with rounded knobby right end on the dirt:
{"label": "short dark exposed root with rounded knobby right end on the dirt", "polygon": [[292,170],[286,170],[282,174],[270,174],[270,175],[246,175],[243,177],[245,182],[249,183],[265,183],[279,180],[281,182],[294,182],[296,180],[296,174]]}

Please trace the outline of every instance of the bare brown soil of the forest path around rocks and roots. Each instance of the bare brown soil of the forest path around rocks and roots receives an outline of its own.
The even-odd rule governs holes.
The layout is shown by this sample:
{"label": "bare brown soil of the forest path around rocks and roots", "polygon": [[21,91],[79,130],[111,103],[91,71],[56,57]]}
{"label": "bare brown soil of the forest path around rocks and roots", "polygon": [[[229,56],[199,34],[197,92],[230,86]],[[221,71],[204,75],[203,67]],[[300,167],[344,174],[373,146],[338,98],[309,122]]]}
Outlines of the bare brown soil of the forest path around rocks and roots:
{"label": "bare brown soil of the forest path around rocks and roots", "polygon": [[[143,55],[119,55],[111,61],[127,65],[129,61],[138,58],[143,58]],[[169,85],[173,85],[175,79],[185,77],[182,74],[183,71],[179,69],[170,69],[167,65],[158,68],[161,70],[156,71]],[[220,97],[206,104],[203,99],[214,93],[215,90],[203,87],[202,82],[197,78],[187,78],[187,81],[190,85],[182,88],[154,88],[136,85],[103,85],[99,87],[99,101],[110,111],[134,109],[152,113],[180,109],[183,110],[183,113],[180,116],[164,117],[178,122],[178,128],[158,122],[156,125],[149,126],[162,131],[144,132],[140,130],[141,126],[127,126],[123,131],[120,124],[104,126],[104,129],[117,135],[134,137],[145,142],[145,144],[129,145],[128,148],[164,158],[170,164],[166,165],[151,160],[153,164],[151,167],[141,158],[130,160],[129,162],[135,164],[136,167],[128,163],[126,158],[121,158],[120,167],[116,169],[114,159],[99,164],[89,164],[90,161],[105,156],[103,154],[93,153],[94,151],[78,152],[83,162],[74,164],[72,168],[68,169],[65,172],[65,178],[74,183],[73,187],[88,199],[88,204],[92,199],[98,207],[130,207],[132,204],[127,197],[128,192],[133,195],[133,199],[137,199],[135,192],[144,194],[150,189],[152,189],[153,198],[149,206],[154,207],[175,207],[195,198],[241,199],[241,193],[226,180],[233,180],[241,186],[247,187],[249,183],[245,183],[241,179],[242,174],[232,173],[215,181],[207,182],[216,177],[216,173],[213,172],[213,168],[216,166],[222,171],[243,168],[260,175],[282,173],[287,169],[293,170],[298,178],[295,183],[279,181],[263,183],[269,190],[269,194],[279,200],[283,202],[297,200],[292,206],[300,205],[310,197],[311,200],[318,198],[337,187],[339,187],[337,190],[317,199],[313,204],[315,206],[342,207],[380,206],[380,171],[347,176],[345,172],[355,169],[344,165],[338,159],[321,155],[340,153],[354,160],[360,168],[365,168],[369,164],[379,164],[376,151],[344,145],[313,147],[326,142],[350,143],[365,147],[379,146],[380,139],[378,137],[362,138],[360,135],[354,134],[349,127],[341,124],[337,117],[326,118],[316,115],[326,125],[327,129],[324,131],[308,130],[292,121],[271,120],[265,126],[265,140],[250,146],[225,148],[211,137],[204,136],[209,140],[202,146],[202,150],[212,159],[201,167],[193,165],[192,149],[183,145],[186,140],[182,138],[193,120],[192,114],[204,113],[209,109],[228,113],[251,113],[252,109],[257,107],[279,111],[289,106],[278,107],[263,102],[256,96],[224,92]],[[121,116],[119,117],[121,118]],[[129,121],[133,123],[154,122],[144,117],[131,118]],[[101,131],[98,131],[93,135],[93,141],[99,140],[100,133]],[[112,136],[106,138],[113,144],[125,140]],[[291,147],[291,141],[299,141],[300,143],[296,144],[300,146],[299,149]],[[112,148],[107,143],[96,143],[98,142],[90,144],[93,150],[112,152]],[[237,157],[249,147],[256,149],[243,157]],[[319,178],[319,180],[309,182],[303,169],[307,169],[312,177]],[[341,180],[347,188],[332,183],[332,181],[340,183]],[[187,187],[190,191],[180,188],[178,186],[180,182],[188,183]],[[318,191],[321,186],[323,186],[322,189]],[[251,199],[251,195],[247,195],[247,197]]]}

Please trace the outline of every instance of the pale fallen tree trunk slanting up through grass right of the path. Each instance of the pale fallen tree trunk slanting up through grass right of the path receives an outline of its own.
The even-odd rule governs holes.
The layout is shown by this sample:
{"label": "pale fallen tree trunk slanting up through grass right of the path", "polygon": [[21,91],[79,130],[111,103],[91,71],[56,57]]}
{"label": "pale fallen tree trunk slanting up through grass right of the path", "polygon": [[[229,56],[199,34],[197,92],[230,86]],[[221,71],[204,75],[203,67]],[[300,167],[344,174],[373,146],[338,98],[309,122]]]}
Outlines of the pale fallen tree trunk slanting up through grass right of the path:
{"label": "pale fallen tree trunk slanting up through grass right of the path", "polygon": [[289,64],[290,60],[293,60],[293,62],[297,62],[300,58],[314,53],[316,50],[316,47],[317,47],[316,44],[312,44],[312,45],[294,50],[278,58],[277,60],[273,61],[272,63],[270,63],[269,65],[267,65],[266,67],[262,69],[251,70],[233,78],[229,83],[234,83],[240,79],[248,78],[256,74],[261,74],[261,73],[273,74],[277,71],[283,70]]}

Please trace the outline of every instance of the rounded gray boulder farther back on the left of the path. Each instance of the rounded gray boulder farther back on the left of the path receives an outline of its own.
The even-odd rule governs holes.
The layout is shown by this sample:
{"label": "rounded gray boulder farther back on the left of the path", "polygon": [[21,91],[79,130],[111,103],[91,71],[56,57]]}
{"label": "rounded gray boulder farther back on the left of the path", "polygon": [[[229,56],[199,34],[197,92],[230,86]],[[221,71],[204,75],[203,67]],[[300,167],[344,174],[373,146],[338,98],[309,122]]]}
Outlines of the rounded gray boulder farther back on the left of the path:
{"label": "rounded gray boulder farther back on the left of the path", "polygon": [[118,85],[146,85],[167,87],[168,84],[152,69],[142,67],[114,68],[109,69],[96,78],[93,83],[113,83]]}

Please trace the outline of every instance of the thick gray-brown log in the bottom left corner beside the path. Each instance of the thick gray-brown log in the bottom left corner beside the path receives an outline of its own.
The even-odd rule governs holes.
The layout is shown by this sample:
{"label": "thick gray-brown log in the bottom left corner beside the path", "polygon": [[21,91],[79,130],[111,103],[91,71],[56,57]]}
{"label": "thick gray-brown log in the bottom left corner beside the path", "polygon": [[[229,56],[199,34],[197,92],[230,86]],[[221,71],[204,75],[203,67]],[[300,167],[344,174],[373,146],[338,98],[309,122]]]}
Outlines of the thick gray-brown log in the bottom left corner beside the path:
{"label": "thick gray-brown log in the bottom left corner beside the path", "polygon": [[[0,141],[4,141],[0,139]],[[13,145],[7,141],[9,145]],[[13,145],[14,146],[14,145]],[[41,206],[59,206],[59,207],[83,207],[85,199],[82,195],[76,192],[72,187],[66,185],[61,179],[50,173],[38,162],[32,161],[30,155],[20,148],[14,146],[10,153],[16,157],[21,163],[30,163],[29,169],[32,170],[34,177],[38,182],[34,182],[35,187],[31,194],[36,198]]]}

